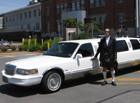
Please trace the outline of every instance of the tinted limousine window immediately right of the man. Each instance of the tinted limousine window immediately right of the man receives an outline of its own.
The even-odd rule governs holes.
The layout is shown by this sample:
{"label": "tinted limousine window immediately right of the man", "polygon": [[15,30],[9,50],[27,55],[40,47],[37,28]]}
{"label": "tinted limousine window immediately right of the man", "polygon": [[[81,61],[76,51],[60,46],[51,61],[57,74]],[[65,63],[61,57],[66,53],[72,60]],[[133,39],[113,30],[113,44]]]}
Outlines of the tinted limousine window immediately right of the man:
{"label": "tinted limousine window immediately right of the man", "polygon": [[125,40],[119,40],[116,42],[117,52],[128,51],[128,46]]}

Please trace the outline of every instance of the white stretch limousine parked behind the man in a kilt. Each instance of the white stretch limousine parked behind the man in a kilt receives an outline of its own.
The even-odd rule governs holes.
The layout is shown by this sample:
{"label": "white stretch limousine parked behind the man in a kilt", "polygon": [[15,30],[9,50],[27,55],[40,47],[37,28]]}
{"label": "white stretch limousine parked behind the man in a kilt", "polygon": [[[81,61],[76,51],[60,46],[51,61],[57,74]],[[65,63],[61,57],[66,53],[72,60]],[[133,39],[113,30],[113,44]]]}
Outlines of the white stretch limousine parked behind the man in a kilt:
{"label": "white stretch limousine parked behind the man in a kilt", "polygon": [[[116,38],[118,68],[140,64],[140,39]],[[100,39],[73,40],[57,43],[40,56],[6,63],[4,82],[20,86],[41,84],[45,91],[55,92],[62,82],[101,72],[98,59],[92,61]]]}

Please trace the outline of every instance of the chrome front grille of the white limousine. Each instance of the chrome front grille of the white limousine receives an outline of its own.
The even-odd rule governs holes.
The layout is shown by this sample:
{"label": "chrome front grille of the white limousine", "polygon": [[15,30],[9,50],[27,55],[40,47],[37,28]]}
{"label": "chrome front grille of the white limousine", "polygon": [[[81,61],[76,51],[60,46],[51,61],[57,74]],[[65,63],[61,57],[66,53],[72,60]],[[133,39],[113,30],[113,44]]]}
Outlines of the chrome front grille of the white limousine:
{"label": "chrome front grille of the white limousine", "polygon": [[14,65],[6,65],[5,73],[7,75],[13,76],[15,74],[15,72],[16,72],[16,66],[14,66]]}

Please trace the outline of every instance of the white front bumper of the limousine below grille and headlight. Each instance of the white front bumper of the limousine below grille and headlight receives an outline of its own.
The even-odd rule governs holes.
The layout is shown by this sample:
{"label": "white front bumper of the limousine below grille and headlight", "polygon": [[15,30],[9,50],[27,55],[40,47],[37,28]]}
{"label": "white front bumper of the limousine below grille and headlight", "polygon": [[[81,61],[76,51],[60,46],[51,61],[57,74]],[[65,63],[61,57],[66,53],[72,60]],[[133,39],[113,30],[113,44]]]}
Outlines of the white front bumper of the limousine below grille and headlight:
{"label": "white front bumper of the limousine below grille and headlight", "polygon": [[32,86],[41,83],[42,75],[17,75],[10,76],[5,74],[5,70],[2,71],[2,79],[6,83],[19,85],[19,86]]}

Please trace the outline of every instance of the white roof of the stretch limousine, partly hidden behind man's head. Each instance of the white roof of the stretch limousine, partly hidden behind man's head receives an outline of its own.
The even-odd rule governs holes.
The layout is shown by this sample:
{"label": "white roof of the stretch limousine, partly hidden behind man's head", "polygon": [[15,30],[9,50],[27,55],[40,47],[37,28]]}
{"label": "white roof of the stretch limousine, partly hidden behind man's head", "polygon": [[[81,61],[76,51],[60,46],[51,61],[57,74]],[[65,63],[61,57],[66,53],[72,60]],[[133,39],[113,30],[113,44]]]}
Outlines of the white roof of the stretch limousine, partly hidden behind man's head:
{"label": "white roof of the stretch limousine, partly hidden behind man's head", "polygon": [[[128,39],[139,39],[140,38],[134,38],[134,37],[116,37],[116,40],[128,40]],[[62,42],[67,42],[67,43],[88,43],[88,42],[99,42],[101,38],[93,38],[93,39],[82,39],[82,40],[70,40],[70,41],[62,41]]]}

